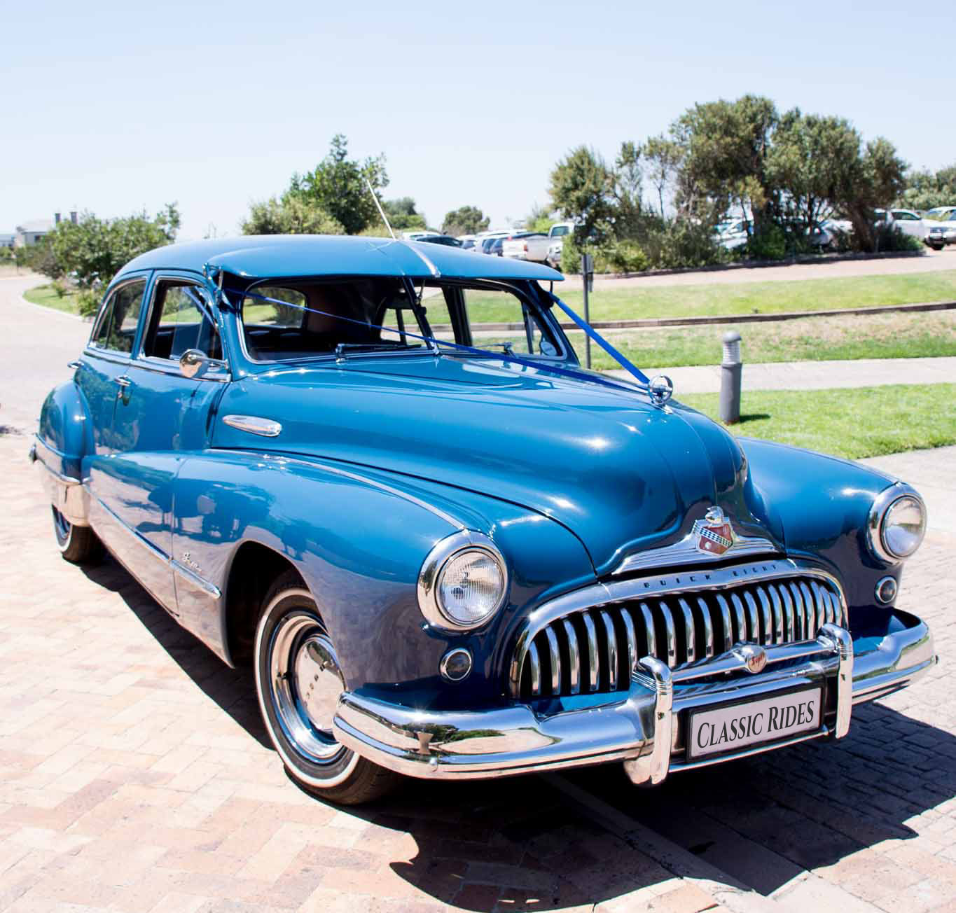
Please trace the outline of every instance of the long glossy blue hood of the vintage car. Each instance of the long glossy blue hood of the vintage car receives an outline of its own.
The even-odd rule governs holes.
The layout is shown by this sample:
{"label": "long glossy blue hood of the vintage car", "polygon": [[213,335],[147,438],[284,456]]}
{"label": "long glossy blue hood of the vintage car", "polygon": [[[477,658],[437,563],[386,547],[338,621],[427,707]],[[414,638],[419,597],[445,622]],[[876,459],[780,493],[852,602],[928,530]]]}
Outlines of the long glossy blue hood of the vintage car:
{"label": "long glossy blue hood of the vintage car", "polygon": [[[226,424],[253,415],[275,437]],[[740,535],[781,543],[733,438],[694,410],[493,359],[353,358],[229,384],[213,445],[344,460],[539,511],[598,574],[676,542],[719,505]]]}

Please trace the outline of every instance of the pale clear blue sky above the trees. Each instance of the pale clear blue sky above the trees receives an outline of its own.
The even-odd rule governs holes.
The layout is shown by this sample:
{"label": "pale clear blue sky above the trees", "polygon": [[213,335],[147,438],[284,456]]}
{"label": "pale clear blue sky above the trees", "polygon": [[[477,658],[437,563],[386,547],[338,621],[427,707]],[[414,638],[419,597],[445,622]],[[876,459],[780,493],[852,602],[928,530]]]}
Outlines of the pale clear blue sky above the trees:
{"label": "pale clear blue sky above the trees", "polygon": [[936,169],[956,161],[956,97],[933,49],[954,35],[952,4],[883,0],[5,4],[0,232],[175,201],[182,240],[234,234],[336,133],[384,153],[384,196],[430,224],[470,205],[503,225],[547,202],[576,145],[613,159],[747,93]]}

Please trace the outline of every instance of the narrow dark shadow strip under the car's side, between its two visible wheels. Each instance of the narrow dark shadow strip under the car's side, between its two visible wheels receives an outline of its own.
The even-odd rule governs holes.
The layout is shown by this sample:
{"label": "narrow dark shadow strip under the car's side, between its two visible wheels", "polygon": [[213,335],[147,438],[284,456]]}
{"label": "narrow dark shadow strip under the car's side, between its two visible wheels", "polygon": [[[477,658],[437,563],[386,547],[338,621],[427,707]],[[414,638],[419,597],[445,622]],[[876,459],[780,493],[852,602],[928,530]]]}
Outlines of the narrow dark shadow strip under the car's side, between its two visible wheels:
{"label": "narrow dark shadow strip under the car's side, between its two visible wheels", "polygon": [[249,669],[232,669],[205,643],[181,627],[110,554],[82,572],[98,586],[117,593],[181,669],[260,745],[272,749],[262,724]]}

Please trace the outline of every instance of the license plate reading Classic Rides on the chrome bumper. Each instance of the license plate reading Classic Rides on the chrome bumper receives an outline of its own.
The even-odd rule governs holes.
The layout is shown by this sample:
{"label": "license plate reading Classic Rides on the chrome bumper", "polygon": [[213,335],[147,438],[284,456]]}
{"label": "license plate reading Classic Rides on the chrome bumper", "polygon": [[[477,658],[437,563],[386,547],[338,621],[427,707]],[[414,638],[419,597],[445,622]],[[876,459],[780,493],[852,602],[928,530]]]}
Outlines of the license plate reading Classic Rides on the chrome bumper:
{"label": "license plate reading Classic Rides on the chrome bumper", "polygon": [[743,749],[819,728],[822,694],[822,688],[803,688],[693,712],[687,739],[689,757]]}

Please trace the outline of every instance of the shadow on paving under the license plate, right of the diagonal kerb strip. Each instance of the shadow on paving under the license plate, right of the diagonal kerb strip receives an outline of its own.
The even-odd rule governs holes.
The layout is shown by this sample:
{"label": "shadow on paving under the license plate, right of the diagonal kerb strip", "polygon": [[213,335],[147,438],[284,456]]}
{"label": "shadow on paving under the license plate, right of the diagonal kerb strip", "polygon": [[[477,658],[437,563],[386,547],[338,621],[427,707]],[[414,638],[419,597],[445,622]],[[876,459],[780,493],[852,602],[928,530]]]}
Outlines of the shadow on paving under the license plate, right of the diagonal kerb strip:
{"label": "shadow on paving under the license plate, right of the diagonal kerb strip", "polygon": [[770,895],[804,870],[918,838],[907,822],[956,795],[956,736],[873,703],[854,707],[838,742],[674,774],[655,790],[626,792],[595,769],[575,780]]}

